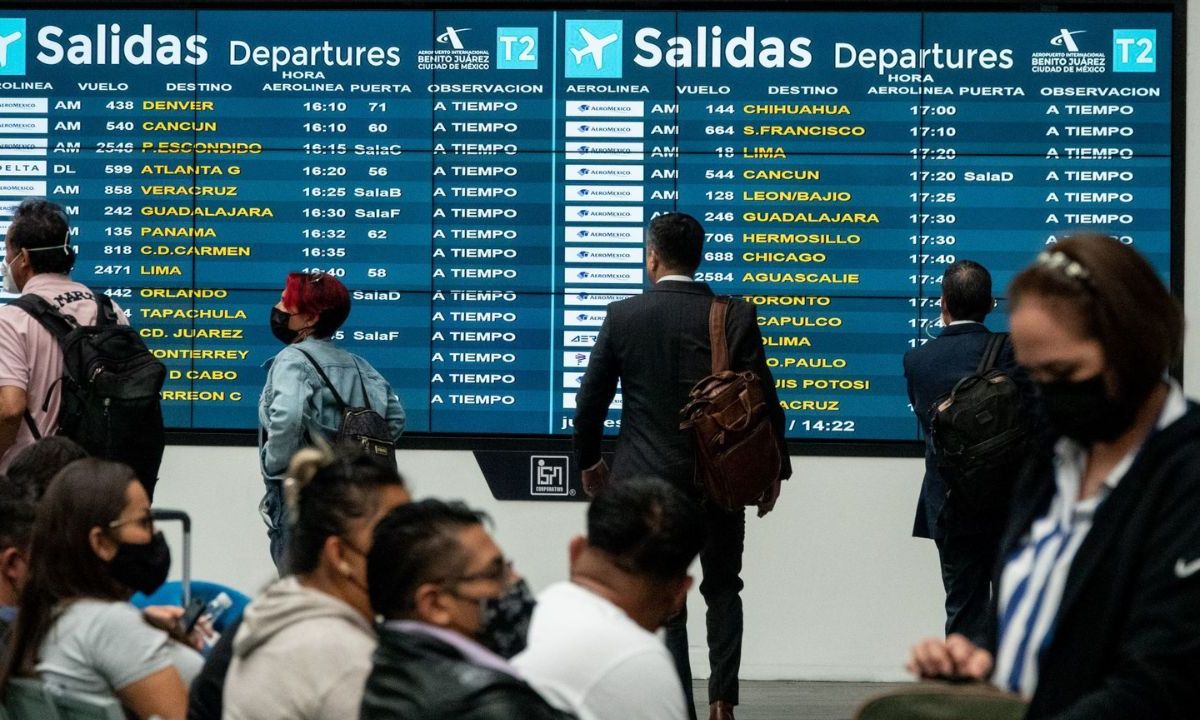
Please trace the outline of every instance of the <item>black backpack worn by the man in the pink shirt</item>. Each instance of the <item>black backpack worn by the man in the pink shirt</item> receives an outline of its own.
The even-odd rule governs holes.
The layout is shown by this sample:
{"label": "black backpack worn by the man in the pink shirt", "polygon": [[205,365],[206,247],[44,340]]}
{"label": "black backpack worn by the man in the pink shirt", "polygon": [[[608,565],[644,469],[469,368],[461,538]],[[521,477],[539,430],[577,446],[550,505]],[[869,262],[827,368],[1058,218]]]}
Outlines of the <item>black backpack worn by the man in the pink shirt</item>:
{"label": "black backpack worn by the man in the pink shirt", "polygon": [[[62,349],[59,434],[79,443],[89,455],[133,468],[154,499],[166,445],[158,394],[167,368],[137,330],[116,322],[107,295],[96,293],[95,299],[95,325],[80,325],[32,293],[12,304],[41,323]],[[42,412],[49,409],[50,395]],[[28,409],[25,422],[35,438],[42,437]]]}

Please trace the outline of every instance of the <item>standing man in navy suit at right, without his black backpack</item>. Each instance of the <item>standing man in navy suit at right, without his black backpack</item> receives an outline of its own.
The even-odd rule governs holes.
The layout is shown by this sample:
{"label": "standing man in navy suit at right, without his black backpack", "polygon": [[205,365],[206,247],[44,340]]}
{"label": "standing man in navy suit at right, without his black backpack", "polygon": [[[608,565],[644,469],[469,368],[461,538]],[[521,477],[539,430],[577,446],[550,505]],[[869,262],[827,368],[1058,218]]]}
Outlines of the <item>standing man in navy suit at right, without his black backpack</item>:
{"label": "standing man in navy suit at right, without his black backpack", "polygon": [[[1004,514],[1003,509],[988,514],[967,512],[953,497],[948,500],[948,487],[929,438],[929,412],[959,380],[978,368],[991,338],[983,322],[994,306],[988,269],[972,260],[952,264],[942,276],[944,329],[935,340],[904,356],[908,400],[925,433],[925,480],[920,486],[912,534],[931,538],[937,544],[946,588],[946,634],[961,632],[977,641],[984,637],[986,629]],[[1010,342],[1004,342],[996,365],[1022,388],[1028,385],[1016,367]]]}

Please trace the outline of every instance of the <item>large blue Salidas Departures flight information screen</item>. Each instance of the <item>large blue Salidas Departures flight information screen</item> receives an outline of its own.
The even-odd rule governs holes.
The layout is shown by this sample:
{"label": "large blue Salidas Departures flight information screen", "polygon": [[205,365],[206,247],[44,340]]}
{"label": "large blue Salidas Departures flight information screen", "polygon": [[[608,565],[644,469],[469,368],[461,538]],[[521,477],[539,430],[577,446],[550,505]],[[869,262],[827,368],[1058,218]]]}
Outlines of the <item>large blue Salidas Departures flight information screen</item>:
{"label": "large blue Salidas Departures flight information screen", "polygon": [[[1169,12],[5,10],[0,227],[167,365],[168,425],[252,428],[286,274],[408,432],[563,434],[643,228],[757,305],[791,438],[914,440],[904,353],[955,259],[997,293],[1098,228],[1171,266]],[[991,325],[1004,326],[1004,306]],[[620,395],[610,425],[619,427]]]}

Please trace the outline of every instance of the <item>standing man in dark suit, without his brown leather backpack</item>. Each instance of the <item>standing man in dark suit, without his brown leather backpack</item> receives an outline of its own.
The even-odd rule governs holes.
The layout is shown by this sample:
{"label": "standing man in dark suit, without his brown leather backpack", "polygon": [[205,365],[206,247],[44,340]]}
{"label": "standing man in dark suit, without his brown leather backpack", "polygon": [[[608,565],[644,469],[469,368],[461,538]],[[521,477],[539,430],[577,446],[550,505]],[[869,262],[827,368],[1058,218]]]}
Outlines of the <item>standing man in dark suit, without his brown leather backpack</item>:
{"label": "standing man in dark suit, without his brown leather backpack", "polygon": [[[653,287],[608,306],[575,404],[575,451],[584,468],[588,494],[595,494],[607,481],[600,440],[618,380],[623,407],[613,476],[619,481],[655,475],[694,497],[700,492],[694,478],[695,449],[690,434],[679,430],[679,410],[692,385],[712,372],[708,312],[713,290],[692,280],[703,250],[704,229],[694,217],[683,212],[655,217],[646,234],[646,270]],[[732,302],[725,328],[731,368],[752,370],[762,379],[772,422],[782,440],[784,412],[767,370],[754,305]],[[785,456],[780,480],[791,473]],[[760,517],[774,508],[778,496],[779,482],[758,505]],[[739,593],[745,512],[722,512],[708,505],[706,516],[709,536],[700,553],[704,576],[700,592],[708,606],[709,718],[732,720],[742,662]],[[667,647],[689,695],[689,715],[695,718],[686,608],[667,623]]]}

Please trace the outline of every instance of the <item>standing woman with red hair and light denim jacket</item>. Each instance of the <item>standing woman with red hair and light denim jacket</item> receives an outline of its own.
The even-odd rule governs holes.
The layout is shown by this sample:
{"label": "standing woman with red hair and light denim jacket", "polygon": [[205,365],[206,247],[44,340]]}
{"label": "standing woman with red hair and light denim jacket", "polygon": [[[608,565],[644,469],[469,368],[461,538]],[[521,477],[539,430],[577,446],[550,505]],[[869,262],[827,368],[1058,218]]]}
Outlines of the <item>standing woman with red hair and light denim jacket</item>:
{"label": "standing woman with red hair and light denim jacket", "polygon": [[326,272],[288,274],[283,294],[271,308],[271,332],[286,347],[269,362],[258,401],[258,457],[266,484],[259,511],[271,540],[271,559],[281,570],[283,479],[296,450],[318,437],[332,442],[348,408],[371,408],[383,415],[392,440],[404,430],[404,408],[388,380],[370,362],[332,342],[349,314],[349,292]]}

